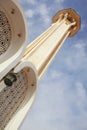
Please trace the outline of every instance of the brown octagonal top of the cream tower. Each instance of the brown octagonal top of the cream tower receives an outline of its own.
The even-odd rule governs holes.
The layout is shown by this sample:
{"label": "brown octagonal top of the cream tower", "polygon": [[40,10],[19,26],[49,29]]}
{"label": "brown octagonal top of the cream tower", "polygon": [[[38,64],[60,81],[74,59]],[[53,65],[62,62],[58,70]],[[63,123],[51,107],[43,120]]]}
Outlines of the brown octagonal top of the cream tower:
{"label": "brown octagonal top of the cream tower", "polygon": [[[75,10],[69,8],[58,11],[52,18],[52,22],[56,23],[64,20],[66,24],[72,24],[70,37],[74,36],[80,30],[80,15]],[[75,24],[74,24],[75,23]]]}

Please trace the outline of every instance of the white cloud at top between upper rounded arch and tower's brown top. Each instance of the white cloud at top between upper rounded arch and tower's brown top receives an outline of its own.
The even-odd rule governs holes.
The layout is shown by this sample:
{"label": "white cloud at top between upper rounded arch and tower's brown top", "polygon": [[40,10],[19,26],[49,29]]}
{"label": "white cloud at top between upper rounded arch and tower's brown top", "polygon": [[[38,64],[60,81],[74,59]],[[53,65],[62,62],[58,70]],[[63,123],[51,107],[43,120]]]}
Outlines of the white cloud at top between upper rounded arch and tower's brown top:
{"label": "white cloud at top between upper rounded arch and tower's brown top", "polygon": [[[20,3],[24,4],[25,0],[20,0]],[[26,0],[27,4],[32,4],[32,9],[26,10],[26,16],[32,18],[35,14],[42,19],[42,24],[48,26],[50,23],[50,13],[49,8],[45,3],[37,2],[36,0]]]}

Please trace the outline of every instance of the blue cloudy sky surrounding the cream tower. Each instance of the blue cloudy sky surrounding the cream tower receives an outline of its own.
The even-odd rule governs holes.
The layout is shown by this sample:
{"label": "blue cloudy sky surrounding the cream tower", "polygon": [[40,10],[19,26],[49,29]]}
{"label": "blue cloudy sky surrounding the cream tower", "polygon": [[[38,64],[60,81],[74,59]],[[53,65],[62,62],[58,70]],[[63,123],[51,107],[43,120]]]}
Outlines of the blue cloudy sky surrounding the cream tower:
{"label": "blue cloudy sky surrounding the cream tower", "polygon": [[29,43],[51,25],[61,9],[81,16],[81,29],[68,38],[39,82],[36,100],[20,130],[87,130],[87,0],[19,0]]}

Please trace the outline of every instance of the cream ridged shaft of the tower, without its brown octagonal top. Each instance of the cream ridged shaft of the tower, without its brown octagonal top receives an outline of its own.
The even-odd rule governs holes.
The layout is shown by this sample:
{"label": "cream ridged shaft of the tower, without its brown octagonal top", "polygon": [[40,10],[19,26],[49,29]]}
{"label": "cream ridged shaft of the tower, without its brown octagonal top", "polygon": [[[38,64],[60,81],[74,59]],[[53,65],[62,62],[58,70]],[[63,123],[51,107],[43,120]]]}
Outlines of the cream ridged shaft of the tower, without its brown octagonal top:
{"label": "cream ridged shaft of the tower, without its brown octagonal top", "polygon": [[23,60],[29,60],[35,65],[39,78],[69,36],[71,26],[65,19],[54,23],[26,49]]}

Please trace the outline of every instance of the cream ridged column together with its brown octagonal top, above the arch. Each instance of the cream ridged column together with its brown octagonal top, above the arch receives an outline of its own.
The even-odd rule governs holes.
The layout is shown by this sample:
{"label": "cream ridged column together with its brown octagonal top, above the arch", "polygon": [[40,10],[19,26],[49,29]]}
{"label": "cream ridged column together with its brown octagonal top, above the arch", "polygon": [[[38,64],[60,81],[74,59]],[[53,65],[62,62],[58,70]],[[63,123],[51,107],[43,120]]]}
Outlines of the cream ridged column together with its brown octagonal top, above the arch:
{"label": "cream ridged column together with its brown octagonal top, above the arch", "polygon": [[78,30],[78,15],[72,9],[62,10],[53,17],[53,23],[26,49],[23,60],[32,62],[40,78],[68,36]]}

